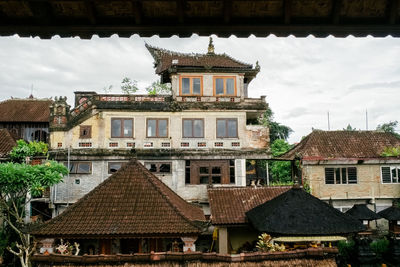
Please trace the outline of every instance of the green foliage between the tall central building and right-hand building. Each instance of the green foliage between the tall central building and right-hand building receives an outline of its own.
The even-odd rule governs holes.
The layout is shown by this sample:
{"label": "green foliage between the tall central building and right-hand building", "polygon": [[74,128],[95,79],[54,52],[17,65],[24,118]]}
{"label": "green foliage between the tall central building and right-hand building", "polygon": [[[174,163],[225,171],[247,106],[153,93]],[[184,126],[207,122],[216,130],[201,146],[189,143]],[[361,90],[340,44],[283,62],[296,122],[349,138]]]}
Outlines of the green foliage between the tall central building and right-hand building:
{"label": "green foliage between the tall central building and right-hand building", "polygon": [[[271,145],[271,152],[274,157],[278,157],[287,152],[291,145],[283,139],[276,139]],[[286,184],[292,182],[292,169],[290,161],[272,161],[269,164],[272,182]]]}

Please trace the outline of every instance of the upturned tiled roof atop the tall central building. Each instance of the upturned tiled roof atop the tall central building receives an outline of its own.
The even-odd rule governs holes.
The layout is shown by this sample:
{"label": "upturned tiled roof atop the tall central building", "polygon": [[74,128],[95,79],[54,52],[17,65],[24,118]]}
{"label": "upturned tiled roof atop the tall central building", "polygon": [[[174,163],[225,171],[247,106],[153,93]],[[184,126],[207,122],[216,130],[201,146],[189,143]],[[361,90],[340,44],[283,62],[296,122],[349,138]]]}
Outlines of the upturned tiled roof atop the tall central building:
{"label": "upturned tiled roof atop the tall central building", "polygon": [[[184,54],[173,52],[146,44],[147,49],[156,61],[156,73],[162,73],[171,66],[233,68],[252,70],[251,64],[240,62],[226,54]],[[174,61],[174,63],[172,62]]]}

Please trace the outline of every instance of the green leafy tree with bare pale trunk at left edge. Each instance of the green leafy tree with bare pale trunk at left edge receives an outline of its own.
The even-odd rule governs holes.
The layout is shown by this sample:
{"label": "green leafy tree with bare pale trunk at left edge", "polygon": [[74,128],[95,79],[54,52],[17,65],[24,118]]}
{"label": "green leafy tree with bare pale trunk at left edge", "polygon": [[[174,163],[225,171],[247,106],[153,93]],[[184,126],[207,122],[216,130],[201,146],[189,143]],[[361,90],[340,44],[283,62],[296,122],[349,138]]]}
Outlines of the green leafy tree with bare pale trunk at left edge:
{"label": "green leafy tree with bare pale trunk at left edge", "polygon": [[[47,145],[18,142],[13,150],[15,160],[24,162],[26,157],[35,155],[32,151],[44,154]],[[34,166],[15,162],[0,164],[0,218],[6,223],[6,228],[17,235],[15,242],[8,241],[7,250],[19,258],[23,267],[30,266],[30,257],[36,249],[28,230],[31,225],[24,222],[25,206],[31,197],[41,195],[46,188],[59,183],[67,173],[67,168],[55,161]],[[4,232],[2,236],[9,237]]]}

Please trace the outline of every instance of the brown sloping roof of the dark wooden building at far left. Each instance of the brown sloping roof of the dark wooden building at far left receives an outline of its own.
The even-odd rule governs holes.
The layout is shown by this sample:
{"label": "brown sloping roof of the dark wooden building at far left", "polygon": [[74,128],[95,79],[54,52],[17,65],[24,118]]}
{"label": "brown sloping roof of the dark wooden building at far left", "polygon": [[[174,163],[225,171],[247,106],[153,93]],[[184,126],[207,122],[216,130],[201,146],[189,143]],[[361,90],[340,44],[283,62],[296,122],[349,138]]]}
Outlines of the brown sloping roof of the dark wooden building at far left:
{"label": "brown sloping roof of the dark wooden building at far left", "polygon": [[0,122],[49,122],[49,99],[8,99],[0,102]]}

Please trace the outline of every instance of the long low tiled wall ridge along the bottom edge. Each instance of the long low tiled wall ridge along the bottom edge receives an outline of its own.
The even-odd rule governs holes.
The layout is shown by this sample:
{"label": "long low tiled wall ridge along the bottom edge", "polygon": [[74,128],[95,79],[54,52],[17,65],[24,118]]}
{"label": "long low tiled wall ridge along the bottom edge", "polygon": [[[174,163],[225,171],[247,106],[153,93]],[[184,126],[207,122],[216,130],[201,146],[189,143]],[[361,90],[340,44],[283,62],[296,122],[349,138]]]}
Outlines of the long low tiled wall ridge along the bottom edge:
{"label": "long low tiled wall ridge along the bottom edge", "polygon": [[[35,254],[32,261],[37,266],[59,267],[87,267],[87,266],[187,266],[187,267],[211,267],[211,266],[251,266],[251,267],[337,267],[335,257],[337,248],[308,248],[291,251],[252,252],[236,255],[192,252],[151,252],[117,255],[61,255],[61,254]],[[96,265],[101,263],[103,265]]]}

